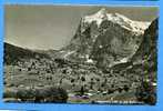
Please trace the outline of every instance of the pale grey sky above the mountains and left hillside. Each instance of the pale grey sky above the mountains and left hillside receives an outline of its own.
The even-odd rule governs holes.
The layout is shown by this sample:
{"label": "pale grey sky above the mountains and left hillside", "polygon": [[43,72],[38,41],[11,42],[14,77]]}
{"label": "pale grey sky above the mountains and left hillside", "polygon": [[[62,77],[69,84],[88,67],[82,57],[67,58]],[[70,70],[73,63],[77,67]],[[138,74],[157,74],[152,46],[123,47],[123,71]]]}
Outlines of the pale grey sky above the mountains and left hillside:
{"label": "pale grey sky above the mountains and left hillside", "polygon": [[6,6],[4,41],[28,49],[59,50],[73,38],[82,17],[101,8],[132,20],[152,21],[156,7]]}

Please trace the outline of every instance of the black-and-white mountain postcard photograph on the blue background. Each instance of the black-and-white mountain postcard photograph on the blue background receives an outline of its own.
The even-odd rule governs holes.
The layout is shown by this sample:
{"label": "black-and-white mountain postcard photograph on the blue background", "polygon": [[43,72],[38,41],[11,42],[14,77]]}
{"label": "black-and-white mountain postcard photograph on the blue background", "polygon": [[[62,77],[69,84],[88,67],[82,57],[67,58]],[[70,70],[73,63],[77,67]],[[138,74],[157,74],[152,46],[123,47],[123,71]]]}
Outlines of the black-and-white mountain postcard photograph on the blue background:
{"label": "black-and-white mountain postcard photograph on the blue background", "polygon": [[159,8],[6,4],[3,101],[155,105]]}

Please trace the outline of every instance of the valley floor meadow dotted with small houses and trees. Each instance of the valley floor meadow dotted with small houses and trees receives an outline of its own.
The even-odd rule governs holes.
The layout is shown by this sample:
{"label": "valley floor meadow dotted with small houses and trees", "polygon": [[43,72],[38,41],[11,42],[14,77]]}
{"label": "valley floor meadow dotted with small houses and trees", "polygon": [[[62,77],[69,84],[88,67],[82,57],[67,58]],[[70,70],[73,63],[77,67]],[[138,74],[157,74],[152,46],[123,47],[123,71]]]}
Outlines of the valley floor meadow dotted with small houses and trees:
{"label": "valley floor meadow dotted with small houses and trees", "polygon": [[[120,71],[120,68],[103,71],[91,63],[37,57],[22,59],[16,65],[4,65],[4,85],[6,91],[60,87],[68,92],[70,103],[111,102],[124,93],[134,97],[141,80],[140,75],[134,73]],[[135,98],[130,99],[136,101]]]}

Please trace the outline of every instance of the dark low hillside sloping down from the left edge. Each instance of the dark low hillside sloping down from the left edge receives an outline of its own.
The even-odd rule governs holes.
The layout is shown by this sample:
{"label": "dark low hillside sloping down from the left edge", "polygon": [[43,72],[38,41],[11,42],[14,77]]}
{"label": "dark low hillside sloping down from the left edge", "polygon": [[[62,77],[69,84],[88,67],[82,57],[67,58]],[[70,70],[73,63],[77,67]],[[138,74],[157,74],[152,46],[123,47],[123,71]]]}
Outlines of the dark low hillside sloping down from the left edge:
{"label": "dark low hillside sloping down from the left edge", "polygon": [[45,53],[35,52],[4,42],[4,63],[14,64],[22,59],[50,58]]}

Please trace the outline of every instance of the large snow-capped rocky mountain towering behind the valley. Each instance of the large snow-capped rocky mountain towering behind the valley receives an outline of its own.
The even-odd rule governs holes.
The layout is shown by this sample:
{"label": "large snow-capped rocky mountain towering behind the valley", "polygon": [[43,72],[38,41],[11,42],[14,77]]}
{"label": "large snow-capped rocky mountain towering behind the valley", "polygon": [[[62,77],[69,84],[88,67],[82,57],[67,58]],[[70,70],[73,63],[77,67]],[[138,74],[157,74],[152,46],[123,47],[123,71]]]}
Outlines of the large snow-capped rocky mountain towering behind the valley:
{"label": "large snow-capped rocky mountain towering behind the valley", "polygon": [[99,67],[125,62],[137,50],[149,24],[101,9],[81,19],[70,44],[60,51],[61,57]]}

